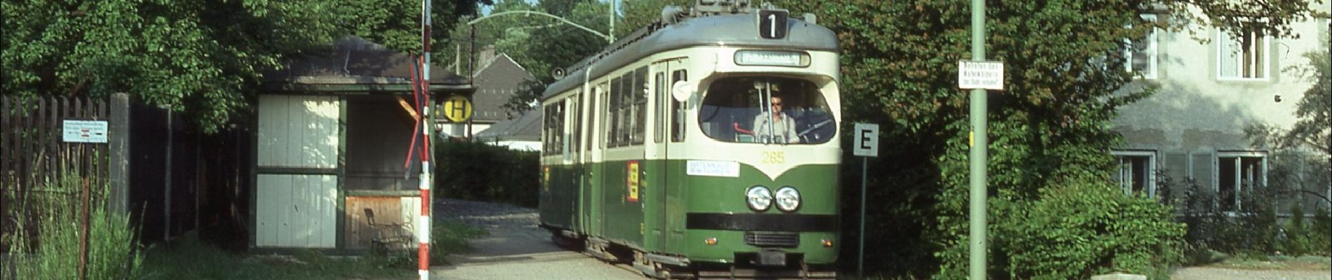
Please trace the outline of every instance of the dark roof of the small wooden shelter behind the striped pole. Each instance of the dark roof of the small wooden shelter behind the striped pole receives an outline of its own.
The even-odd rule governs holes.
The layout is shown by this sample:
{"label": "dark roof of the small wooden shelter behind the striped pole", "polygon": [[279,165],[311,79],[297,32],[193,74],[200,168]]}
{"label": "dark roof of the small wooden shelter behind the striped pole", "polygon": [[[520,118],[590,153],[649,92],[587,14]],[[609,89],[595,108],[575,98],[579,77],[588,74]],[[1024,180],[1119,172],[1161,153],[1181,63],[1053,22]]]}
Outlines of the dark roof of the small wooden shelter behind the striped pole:
{"label": "dark roof of the small wooden shelter behind the striped pole", "polygon": [[[333,52],[289,60],[264,74],[277,92],[397,92],[410,93],[418,60],[384,45],[349,36]],[[468,78],[430,65],[430,92],[470,92]]]}

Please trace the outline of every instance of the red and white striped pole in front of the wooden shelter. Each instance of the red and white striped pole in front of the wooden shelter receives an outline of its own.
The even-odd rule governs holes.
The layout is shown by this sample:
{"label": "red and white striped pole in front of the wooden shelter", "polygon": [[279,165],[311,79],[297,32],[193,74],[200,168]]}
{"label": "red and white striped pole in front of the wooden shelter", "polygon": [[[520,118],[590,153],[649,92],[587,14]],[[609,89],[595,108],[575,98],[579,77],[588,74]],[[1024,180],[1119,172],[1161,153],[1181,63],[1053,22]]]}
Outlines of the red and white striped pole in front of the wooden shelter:
{"label": "red and white striped pole in front of the wooden shelter", "polygon": [[430,115],[430,0],[421,0],[421,54],[425,60],[421,60],[421,215],[417,218],[416,235],[420,247],[417,247],[417,273],[421,275],[421,280],[430,280],[430,157],[434,155],[430,150],[430,130],[434,123],[429,121]]}

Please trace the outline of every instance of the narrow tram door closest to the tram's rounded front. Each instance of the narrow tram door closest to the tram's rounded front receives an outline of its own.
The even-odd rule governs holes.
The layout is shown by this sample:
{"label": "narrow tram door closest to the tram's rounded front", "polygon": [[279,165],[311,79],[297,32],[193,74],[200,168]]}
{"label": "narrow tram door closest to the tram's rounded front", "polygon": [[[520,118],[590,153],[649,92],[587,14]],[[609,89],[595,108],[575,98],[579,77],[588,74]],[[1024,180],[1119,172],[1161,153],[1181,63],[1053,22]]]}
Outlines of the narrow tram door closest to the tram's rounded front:
{"label": "narrow tram door closest to the tram's rounded front", "polygon": [[653,102],[653,135],[647,149],[647,157],[658,162],[657,171],[649,174],[647,192],[650,199],[646,208],[645,222],[650,224],[650,231],[645,232],[650,244],[655,244],[662,251],[671,245],[682,244],[685,238],[685,200],[682,182],[675,180],[683,175],[679,161],[670,154],[671,149],[683,149],[685,141],[685,105],[687,101],[675,101],[671,97],[671,85],[675,81],[687,81],[686,58],[670,58],[653,64],[651,69],[651,102]]}

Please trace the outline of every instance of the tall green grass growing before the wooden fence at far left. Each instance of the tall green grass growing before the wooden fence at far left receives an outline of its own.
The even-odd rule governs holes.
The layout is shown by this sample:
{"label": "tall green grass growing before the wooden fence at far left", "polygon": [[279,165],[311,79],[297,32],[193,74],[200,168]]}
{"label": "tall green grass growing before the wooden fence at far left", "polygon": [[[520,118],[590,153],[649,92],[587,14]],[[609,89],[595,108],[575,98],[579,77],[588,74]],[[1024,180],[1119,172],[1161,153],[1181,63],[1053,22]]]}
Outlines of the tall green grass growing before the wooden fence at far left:
{"label": "tall green grass growing before the wooden fence at far left", "polygon": [[[13,279],[83,279],[79,272],[84,179],[65,171],[65,176],[47,179],[29,195],[7,187],[4,200],[31,206],[29,212],[12,211],[13,232],[5,232],[9,260],[0,265],[0,275]],[[143,253],[137,232],[128,215],[107,210],[107,184],[88,186],[88,275],[87,279],[140,279]],[[28,208],[28,207],[15,207]],[[36,235],[33,235],[36,234]]]}

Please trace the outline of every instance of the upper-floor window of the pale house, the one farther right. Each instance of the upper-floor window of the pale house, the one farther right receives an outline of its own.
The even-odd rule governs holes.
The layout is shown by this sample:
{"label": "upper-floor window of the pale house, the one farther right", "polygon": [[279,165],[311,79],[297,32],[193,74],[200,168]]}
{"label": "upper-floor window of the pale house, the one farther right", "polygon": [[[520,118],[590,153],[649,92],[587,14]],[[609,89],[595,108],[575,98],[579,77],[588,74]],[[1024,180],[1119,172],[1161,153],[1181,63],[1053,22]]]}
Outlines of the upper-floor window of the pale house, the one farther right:
{"label": "upper-floor window of the pale house, the one farther right", "polygon": [[1267,80],[1271,76],[1271,50],[1260,27],[1261,23],[1245,24],[1240,35],[1216,31],[1219,80]]}

